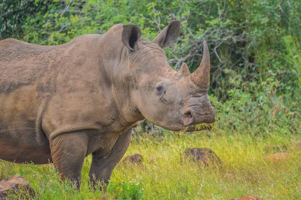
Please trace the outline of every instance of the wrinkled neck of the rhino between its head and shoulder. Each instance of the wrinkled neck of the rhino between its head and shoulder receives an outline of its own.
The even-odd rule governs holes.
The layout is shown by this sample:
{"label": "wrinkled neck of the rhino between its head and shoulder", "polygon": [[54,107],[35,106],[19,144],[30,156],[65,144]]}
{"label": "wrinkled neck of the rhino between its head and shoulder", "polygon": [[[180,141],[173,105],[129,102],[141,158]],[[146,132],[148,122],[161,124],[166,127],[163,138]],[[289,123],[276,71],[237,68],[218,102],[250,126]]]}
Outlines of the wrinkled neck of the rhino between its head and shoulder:
{"label": "wrinkled neck of the rhino between its head and shoulder", "polygon": [[129,67],[127,48],[121,41],[122,26],[115,25],[102,36],[99,67],[109,88],[110,101],[124,121],[122,123],[135,123],[144,118],[132,98],[137,80]]}

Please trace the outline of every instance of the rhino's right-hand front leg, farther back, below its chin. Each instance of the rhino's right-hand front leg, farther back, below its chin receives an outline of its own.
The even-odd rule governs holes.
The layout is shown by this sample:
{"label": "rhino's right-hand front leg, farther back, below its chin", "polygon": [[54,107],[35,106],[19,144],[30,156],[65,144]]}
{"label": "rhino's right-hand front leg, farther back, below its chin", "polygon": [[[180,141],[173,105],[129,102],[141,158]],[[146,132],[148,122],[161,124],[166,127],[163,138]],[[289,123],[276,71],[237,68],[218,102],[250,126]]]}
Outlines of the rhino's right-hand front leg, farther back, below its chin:
{"label": "rhino's right-hand front leg, farther back, below its chin", "polygon": [[97,181],[103,181],[105,183],[103,186],[106,187],[114,167],[125,154],[129,146],[130,139],[131,129],[118,137],[114,147],[109,153],[104,155],[100,149],[92,153],[92,164],[89,177],[93,187],[95,187],[95,183]]}

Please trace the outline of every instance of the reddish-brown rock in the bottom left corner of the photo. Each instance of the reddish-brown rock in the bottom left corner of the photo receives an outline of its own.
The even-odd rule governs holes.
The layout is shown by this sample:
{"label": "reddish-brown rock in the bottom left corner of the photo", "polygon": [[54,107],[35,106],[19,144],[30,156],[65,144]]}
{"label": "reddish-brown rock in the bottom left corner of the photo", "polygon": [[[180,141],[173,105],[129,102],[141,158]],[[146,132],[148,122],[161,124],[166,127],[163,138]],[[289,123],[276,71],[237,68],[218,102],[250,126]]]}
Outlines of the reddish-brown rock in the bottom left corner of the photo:
{"label": "reddish-brown rock in the bottom left corner of the photo", "polygon": [[0,200],[6,199],[10,193],[17,194],[21,191],[26,192],[24,193],[25,197],[27,197],[27,194],[35,195],[35,191],[30,187],[29,182],[20,175],[12,175],[0,182]]}

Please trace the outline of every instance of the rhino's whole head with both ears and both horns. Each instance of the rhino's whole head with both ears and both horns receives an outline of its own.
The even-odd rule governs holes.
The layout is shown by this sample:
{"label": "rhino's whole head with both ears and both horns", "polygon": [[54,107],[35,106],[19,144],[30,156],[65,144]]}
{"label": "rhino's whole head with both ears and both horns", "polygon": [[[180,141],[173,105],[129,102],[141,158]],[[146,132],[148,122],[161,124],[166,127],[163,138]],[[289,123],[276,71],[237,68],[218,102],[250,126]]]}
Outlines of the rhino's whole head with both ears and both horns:
{"label": "rhino's whole head with both ears and both horns", "polygon": [[172,21],[152,42],[141,39],[135,25],[124,25],[122,43],[127,48],[128,68],[135,76],[131,98],[143,118],[171,131],[215,122],[208,98],[210,58],[206,42],[200,66],[190,73],[186,63],[179,71],[168,64],[164,47],[180,34],[180,21]]}

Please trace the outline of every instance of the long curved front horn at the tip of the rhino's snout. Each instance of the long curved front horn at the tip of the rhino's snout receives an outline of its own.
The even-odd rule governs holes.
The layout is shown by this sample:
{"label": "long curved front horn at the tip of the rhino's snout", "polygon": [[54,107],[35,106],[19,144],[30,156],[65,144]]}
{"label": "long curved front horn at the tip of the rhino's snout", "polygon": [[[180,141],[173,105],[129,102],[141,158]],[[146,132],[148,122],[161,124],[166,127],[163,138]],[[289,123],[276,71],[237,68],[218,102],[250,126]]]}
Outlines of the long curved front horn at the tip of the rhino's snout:
{"label": "long curved front horn at the tip of the rhino's snout", "polygon": [[200,66],[189,78],[197,86],[208,89],[210,84],[210,56],[206,41],[204,41],[204,52]]}

